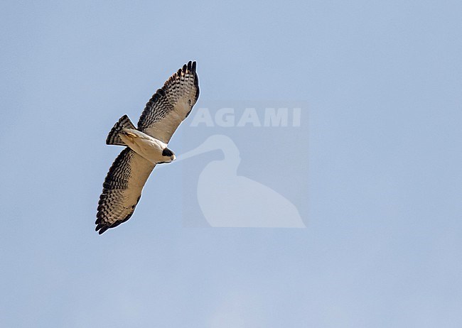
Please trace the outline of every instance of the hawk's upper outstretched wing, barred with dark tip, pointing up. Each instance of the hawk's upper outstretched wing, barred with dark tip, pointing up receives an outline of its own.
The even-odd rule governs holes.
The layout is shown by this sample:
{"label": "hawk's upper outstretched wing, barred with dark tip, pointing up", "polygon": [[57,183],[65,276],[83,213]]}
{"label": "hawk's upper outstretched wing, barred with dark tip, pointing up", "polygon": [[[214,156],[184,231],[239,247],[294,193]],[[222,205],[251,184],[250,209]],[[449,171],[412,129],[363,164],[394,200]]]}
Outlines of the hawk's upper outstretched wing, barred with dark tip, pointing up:
{"label": "hawk's upper outstretched wing, barred with dark tip, pointing up", "polygon": [[146,104],[138,129],[168,143],[199,97],[195,62],[188,62],[163,84]]}

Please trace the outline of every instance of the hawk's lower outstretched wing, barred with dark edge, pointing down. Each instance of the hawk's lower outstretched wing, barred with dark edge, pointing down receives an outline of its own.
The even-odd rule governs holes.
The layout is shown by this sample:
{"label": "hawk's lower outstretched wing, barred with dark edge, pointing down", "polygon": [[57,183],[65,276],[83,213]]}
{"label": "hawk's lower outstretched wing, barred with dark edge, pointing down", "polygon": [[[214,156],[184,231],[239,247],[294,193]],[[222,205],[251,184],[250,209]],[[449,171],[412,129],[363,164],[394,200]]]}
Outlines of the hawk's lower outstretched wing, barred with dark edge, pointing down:
{"label": "hawk's lower outstretched wing, barred with dark edge, pointing down", "polygon": [[128,147],[117,156],[102,185],[96,231],[102,234],[131,217],[154,166]]}

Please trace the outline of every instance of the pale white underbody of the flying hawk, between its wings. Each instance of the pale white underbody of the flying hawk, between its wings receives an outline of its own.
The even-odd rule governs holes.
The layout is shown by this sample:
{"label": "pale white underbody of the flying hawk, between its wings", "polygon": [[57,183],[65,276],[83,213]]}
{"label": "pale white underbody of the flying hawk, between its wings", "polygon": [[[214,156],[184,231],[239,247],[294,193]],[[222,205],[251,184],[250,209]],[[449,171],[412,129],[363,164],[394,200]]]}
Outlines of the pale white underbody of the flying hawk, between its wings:
{"label": "pale white underbody of the flying hawk, between its wings", "polygon": [[122,141],[124,141],[132,151],[146,158],[146,160],[149,160],[151,163],[166,163],[175,160],[175,155],[171,158],[166,158],[166,156],[162,155],[162,151],[167,148],[166,143],[146,133],[135,129],[124,129],[119,135]]}

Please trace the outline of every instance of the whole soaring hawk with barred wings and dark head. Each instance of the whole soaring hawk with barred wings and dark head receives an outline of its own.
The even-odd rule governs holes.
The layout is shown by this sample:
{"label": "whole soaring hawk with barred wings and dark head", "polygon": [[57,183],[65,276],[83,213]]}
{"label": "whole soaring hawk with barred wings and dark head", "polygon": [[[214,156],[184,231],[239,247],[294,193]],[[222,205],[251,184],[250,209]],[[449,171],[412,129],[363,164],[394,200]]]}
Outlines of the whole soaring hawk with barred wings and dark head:
{"label": "whole soaring hawk with barred wings and dark head", "polygon": [[198,100],[195,68],[195,62],[188,62],[156,91],[146,104],[137,128],[124,115],[109,132],[106,143],[125,148],[112,163],[102,185],[95,222],[99,234],[131,217],[156,164],[175,160],[167,144]]}

